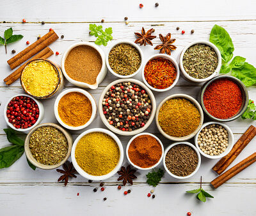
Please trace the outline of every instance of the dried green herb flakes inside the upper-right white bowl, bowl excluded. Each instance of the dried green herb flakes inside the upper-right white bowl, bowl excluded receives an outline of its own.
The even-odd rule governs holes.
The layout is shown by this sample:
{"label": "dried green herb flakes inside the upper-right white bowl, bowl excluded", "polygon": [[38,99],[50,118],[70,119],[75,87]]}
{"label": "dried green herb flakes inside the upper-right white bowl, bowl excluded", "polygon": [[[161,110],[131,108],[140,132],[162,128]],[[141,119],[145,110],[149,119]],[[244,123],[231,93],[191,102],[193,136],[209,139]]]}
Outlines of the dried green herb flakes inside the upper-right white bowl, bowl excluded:
{"label": "dried green herb flakes inside the upper-right white bowl, bowl excluded", "polygon": [[196,79],[204,79],[211,76],[216,70],[218,56],[214,48],[198,43],[186,50],[182,64],[189,76]]}

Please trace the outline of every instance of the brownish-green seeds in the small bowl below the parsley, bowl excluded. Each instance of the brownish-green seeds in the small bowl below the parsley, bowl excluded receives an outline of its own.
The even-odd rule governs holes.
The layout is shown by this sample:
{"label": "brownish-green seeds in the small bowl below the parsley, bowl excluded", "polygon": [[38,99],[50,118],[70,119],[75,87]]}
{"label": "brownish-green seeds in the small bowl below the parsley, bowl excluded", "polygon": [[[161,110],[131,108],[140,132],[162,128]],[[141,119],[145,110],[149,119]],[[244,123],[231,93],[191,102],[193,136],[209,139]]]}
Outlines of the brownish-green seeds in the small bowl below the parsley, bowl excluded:
{"label": "brownish-green seeds in the small bowl below the parsley, bowl excluded", "polygon": [[127,43],[113,47],[108,55],[109,66],[115,73],[122,76],[132,75],[141,64],[140,52]]}

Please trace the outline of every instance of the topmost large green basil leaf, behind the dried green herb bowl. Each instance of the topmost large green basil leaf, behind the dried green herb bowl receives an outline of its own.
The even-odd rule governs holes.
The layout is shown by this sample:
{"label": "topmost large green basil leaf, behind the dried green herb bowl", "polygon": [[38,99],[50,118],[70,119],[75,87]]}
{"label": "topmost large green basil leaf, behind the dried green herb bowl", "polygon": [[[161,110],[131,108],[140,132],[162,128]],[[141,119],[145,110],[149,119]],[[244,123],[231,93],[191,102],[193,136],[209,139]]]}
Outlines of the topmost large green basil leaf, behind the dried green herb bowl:
{"label": "topmost large green basil leaf, behind the dried green herb bowl", "polygon": [[233,57],[234,45],[228,32],[220,25],[214,25],[210,34],[210,41],[218,47],[224,62],[228,62]]}

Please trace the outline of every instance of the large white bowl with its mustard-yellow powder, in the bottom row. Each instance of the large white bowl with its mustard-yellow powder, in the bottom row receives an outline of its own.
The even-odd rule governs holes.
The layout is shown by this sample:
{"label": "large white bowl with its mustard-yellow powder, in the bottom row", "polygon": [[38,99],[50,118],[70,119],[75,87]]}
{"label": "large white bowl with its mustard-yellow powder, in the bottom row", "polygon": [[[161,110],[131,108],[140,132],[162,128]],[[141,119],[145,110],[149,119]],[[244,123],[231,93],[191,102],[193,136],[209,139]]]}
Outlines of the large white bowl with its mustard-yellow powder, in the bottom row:
{"label": "large white bowl with its mustard-yellow powder, in the bottom row", "polygon": [[121,141],[111,131],[94,128],[76,138],[71,159],[81,176],[100,181],[110,178],[120,169],[124,149]]}

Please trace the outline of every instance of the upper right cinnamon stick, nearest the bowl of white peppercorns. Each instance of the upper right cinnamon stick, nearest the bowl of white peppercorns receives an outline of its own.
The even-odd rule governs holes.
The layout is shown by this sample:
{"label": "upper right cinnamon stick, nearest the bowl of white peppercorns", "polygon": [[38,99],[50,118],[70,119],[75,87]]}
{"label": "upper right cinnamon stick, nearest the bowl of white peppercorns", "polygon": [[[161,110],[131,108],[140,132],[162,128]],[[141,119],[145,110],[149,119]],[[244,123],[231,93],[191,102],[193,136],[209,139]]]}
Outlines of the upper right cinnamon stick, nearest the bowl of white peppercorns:
{"label": "upper right cinnamon stick, nearest the bowl of white peppercorns", "polygon": [[[248,145],[252,138],[256,135],[256,127],[250,126],[245,133],[237,140],[232,150],[218,161],[212,168],[219,175],[227,169],[227,167],[236,159],[241,151]],[[236,153],[236,154],[235,154]]]}

